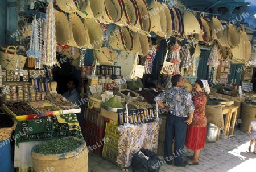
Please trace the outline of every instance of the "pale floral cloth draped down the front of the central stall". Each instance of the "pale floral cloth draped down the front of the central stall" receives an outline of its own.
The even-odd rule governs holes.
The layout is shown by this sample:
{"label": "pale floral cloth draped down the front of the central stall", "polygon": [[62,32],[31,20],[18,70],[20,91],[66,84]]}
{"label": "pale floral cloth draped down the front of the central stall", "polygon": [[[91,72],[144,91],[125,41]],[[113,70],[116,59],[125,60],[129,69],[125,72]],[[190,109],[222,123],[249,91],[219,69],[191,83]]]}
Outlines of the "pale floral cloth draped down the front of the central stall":
{"label": "pale floral cloth draped down the front of the central stall", "polygon": [[158,132],[162,123],[159,121],[138,124],[127,128],[118,128],[121,136],[118,143],[117,163],[125,167],[131,165],[133,155],[141,148],[152,152],[158,149]]}

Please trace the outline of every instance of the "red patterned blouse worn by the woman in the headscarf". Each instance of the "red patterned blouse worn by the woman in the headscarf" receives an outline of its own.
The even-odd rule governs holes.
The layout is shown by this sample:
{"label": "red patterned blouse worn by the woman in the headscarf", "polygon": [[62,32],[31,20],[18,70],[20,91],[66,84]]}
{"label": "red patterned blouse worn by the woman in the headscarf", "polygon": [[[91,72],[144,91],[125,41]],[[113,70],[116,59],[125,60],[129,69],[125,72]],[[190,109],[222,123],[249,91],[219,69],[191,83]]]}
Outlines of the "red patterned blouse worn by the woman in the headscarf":
{"label": "red patterned blouse worn by the woman in the headscarf", "polygon": [[195,106],[195,111],[193,114],[191,126],[197,127],[206,127],[207,119],[205,117],[205,106],[207,103],[207,96],[205,93],[196,94],[196,96],[192,97],[193,104]]}

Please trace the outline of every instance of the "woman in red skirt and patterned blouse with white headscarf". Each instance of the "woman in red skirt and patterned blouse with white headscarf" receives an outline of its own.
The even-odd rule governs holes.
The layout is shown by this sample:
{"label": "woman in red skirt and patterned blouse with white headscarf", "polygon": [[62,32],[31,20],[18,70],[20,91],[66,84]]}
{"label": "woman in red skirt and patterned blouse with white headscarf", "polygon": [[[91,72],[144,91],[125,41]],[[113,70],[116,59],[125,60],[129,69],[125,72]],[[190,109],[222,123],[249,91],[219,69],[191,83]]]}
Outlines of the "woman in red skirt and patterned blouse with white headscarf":
{"label": "woman in red skirt and patterned blouse with white headscarf", "polygon": [[207,119],[205,117],[206,93],[210,88],[207,80],[197,80],[192,89],[192,100],[195,105],[192,123],[188,126],[185,145],[194,151],[193,156],[187,156],[191,160],[186,161],[190,165],[199,164],[200,149],[204,148],[207,132]]}

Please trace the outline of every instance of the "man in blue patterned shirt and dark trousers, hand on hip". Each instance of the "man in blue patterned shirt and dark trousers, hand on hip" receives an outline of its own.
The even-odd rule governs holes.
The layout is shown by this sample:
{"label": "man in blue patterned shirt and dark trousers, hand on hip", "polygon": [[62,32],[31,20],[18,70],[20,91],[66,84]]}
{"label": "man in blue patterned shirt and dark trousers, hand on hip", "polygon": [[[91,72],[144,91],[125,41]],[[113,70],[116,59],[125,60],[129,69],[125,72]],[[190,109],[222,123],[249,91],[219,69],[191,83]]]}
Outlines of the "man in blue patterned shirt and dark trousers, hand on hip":
{"label": "man in blue patterned shirt and dark trousers, hand on hip", "polygon": [[[164,160],[167,164],[186,166],[182,154],[184,149],[187,124],[191,124],[195,106],[192,96],[181,87],[184,85],[183,77],[179,74],[172,76],[172,88],[166,89],[154,98],[155,102],[167,113],[166,135],[164,143]],[[172,154],[172,139],[174,141],[174,153]]]}

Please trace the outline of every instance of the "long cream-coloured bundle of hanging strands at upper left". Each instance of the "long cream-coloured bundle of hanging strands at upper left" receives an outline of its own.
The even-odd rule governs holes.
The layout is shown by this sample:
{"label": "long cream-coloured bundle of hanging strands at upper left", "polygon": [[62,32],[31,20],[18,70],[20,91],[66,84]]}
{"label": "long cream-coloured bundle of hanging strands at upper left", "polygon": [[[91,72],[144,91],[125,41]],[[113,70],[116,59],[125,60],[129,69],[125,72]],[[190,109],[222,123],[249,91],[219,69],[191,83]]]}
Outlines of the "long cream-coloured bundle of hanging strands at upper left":
{"label": "long cream-coloured bundle of hanging strands at upper left", "polygon": [[55,14],[52,1],[50,0],[46,10],[46,25],[44,30],[44,45],[42,64],[53,66],[59,64],[56,61],[56,37],[55,37]]}

